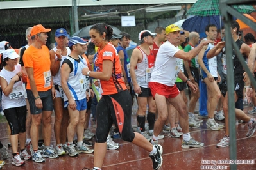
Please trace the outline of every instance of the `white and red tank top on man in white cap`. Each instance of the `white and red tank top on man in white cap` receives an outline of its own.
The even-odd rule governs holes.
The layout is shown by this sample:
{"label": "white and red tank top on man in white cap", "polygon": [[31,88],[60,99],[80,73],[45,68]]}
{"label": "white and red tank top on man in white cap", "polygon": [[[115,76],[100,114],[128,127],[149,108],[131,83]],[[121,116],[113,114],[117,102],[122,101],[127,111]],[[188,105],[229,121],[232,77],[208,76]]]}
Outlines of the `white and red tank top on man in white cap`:
{"label": "white and red tank top on man in white cap", "polygon": [[155,65],[155,58],[152,50],[150,49],[150,54],[147,55],[139,46],[136,47],[141,50],[142,61],[137,63],[135,68],[136,81],[142,88],[148,88],[148,82],[151,79],[151,73]]}

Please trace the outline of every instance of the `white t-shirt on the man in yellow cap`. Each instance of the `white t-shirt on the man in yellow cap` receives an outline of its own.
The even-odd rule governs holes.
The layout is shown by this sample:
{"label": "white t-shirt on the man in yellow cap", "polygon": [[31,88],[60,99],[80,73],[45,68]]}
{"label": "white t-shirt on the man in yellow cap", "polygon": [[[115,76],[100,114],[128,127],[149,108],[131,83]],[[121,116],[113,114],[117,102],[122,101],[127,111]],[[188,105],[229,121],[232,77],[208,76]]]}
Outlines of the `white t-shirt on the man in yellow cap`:
{"label": "white t-shirt on the man in yellow cap", "polygon": [[175,85],[178,72],[180,72],[180,62],[174,56],[179,50],[169,41],[160,46],[150,82],[158,82],[167,86]]}

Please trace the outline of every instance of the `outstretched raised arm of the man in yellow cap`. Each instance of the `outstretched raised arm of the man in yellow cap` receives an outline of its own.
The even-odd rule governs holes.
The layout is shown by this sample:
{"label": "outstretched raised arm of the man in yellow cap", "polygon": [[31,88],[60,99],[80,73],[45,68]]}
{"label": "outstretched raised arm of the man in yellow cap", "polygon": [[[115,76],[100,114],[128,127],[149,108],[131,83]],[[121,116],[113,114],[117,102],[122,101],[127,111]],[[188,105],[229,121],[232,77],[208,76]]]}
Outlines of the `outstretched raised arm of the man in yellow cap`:
{"label": "outstretched raised arm of the man in yellow cap", "polygon": [[175,53],[175,57],[181,58],[183,60],[191,60],[201,51],[201,49],[203,49],[205,45],[208,45],[209,43],[214,43],[214,41],[211,41],[211,40],[201,41],[201,43],[196,48],[190,50],[189,52],[184,52],[183,50],[179,50],[178,52]]}

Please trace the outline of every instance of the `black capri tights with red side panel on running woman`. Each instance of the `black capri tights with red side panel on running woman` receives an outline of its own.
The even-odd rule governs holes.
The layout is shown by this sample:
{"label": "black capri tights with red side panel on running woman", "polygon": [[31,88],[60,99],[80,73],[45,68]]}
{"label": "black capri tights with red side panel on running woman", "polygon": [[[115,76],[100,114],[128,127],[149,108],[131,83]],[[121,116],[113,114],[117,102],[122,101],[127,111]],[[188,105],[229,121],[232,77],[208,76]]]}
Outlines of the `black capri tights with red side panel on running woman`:
{"label": "black capri tights with red side panel on running woman", "polygon": [[132,97],[128,90],[114,95],[103,95],[96,108],[96,142],[105,143],[112,126],[119,130],[124,141],[132,142]]}

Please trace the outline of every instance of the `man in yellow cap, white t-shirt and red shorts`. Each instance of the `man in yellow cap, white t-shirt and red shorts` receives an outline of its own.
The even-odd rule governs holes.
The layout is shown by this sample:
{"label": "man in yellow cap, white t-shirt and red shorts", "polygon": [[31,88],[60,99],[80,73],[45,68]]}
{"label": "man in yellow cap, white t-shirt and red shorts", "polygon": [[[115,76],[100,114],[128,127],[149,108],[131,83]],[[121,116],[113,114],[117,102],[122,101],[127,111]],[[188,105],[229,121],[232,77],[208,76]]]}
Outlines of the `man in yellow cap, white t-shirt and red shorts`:
{"label": "man in yellow cap, white t-shirt and red shorts", "polygon": [[210,42],[205,41],[200,43],[196,48],[189,52],[184,52],[178,49],[180,45],[180,28],[175,25],[166,27],[167,41],[160,46],[157,52],[157,60],[155,61],[155,68],[151,74],[149,87],[151,93],[155,98],[158,109],[158,119],[155,122],[153,137],[151,143],[158,143],[158,135],[162,131],[162,127],[168,117],[168,107],[172,104],[180,114],[180,126],[182,127],[183,140],[182,148],[202,147],[204,144],[196,141],[189,134],[189,116],[187,105],[185,104],[180,91],[175,85],[176,77],[180,76],[182,81],[196,91],[196,86],[181,74],[178,58],[184,60],[191,60],[198,52]]}

